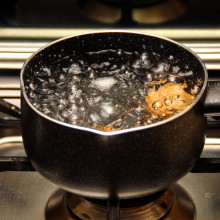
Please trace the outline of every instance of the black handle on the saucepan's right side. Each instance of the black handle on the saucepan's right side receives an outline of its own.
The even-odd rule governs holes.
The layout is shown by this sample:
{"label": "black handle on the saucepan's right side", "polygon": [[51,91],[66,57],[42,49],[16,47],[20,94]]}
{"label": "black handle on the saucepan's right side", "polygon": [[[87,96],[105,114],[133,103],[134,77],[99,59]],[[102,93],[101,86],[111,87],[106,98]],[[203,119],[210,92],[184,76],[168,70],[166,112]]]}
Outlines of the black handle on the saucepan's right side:
{"label": "black handle on the saucepan's right side", "polygon": [[206,117],[220,116],[220,81],[209,81],[204,115]]}

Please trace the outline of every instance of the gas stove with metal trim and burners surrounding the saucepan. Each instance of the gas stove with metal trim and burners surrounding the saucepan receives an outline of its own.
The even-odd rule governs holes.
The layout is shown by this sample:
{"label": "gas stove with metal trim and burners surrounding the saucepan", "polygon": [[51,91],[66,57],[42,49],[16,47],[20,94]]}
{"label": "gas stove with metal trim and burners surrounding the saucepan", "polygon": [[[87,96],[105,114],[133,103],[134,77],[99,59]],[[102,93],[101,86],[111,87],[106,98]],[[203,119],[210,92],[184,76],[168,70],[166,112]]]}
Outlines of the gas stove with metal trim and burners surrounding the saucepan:
{"label": "gas stove with metal trim and burners surrounding the saucepan", "polygon": [[[13,0],[0,3],[0,97],[20,106],[19,71],[38,48],[68,35],[103,29],[140,31],[172,38],[204,61],[209,81],[220,81],[219,1]],[[48,8],[50,10],[48,10]],[[92,9],[92,10],[91,10]],[[172,9],[172,10],[171,10]],[[31,170],[20,121],[0,113],[0,161],[20,157],[0,172],[1,220],[220,219],[220,117],[208,116],[207,138],[197,167],[166,191],[108,202],[65,192]],[[210,159],[211,158],[211,159]],[[206,163],[212,166],[207,166]],[[25,167],[26,165],[27,167]],[[112,216],[111,216],[112,215]]]}

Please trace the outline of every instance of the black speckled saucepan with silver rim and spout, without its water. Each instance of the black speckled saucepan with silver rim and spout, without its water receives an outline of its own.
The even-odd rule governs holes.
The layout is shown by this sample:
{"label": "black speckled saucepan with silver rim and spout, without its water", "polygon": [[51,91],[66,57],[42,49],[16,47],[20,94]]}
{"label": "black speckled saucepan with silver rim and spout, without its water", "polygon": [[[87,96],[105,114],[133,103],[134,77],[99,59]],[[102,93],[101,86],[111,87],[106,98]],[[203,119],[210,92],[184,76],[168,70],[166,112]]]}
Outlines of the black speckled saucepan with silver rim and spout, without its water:
{"label": "black speckled saucepan with silver rim and spout, without its water", "polygon": [[[155,67],[161,62],[169,64],[166,71],[178,66],[190,75],[189,84],[199,82],[200,91],[190,105],[170,118],[112,132],[61,122],[30,102],[27,79],[37,77],[42,67],[52,67],[73,52],[106,49],[152,54]],[[42,176],[71,193],[96,199],[151,195],[186,175],[203,150],[208,73],[193,51],[173,40],[125,31],[70,36],[34,53],[20,77],[21,127],[28,159]]]}

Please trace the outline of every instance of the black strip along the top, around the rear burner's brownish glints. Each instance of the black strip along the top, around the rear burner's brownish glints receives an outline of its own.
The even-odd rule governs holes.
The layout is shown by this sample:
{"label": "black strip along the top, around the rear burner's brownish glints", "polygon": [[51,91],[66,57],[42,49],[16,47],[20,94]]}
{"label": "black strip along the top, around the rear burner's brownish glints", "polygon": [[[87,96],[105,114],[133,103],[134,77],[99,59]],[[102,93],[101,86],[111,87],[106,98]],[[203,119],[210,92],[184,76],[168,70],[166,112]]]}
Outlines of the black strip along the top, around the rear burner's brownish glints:
{"label": "black strip along the top, around the rear burner's brownish glints", "polygon": [[[143,9],[156,5],[160,7],[161,4],[169,2],[181,2],[186,8],[185,13],[175,19],[156,24],[140,24],[132,19],[131,11],[134,8]],[[120,10],[123,16],[117,22],[108,24],[88,18],[88,12],[91,11],[95,14],[105,13],[97,8],[100,4],[104,4],[105,8]],[[83,13],[87,5],[92,7]],[[10,0],[0,2],[0,26],[215,28],[220,26],[219,9],[219,0]],[[162,10],[159,12],[162,14],[166,8],[159,10]]]}

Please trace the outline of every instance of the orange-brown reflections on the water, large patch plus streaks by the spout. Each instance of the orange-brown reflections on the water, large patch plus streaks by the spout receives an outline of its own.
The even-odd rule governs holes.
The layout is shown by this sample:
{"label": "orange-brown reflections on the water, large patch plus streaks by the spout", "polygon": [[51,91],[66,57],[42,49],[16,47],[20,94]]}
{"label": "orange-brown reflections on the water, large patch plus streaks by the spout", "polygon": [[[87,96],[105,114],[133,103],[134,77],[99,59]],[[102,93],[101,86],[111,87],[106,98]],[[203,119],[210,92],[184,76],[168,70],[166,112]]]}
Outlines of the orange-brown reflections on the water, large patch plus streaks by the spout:
{"label": "orange-brown reflections on the water, large patch plus streaks by the spout", "polygon": [[[148,104],[147,106],[143,105],[143,103],[139,103],[144,109],[147,109],[149,112],[149,114],[145,115],[145,118],[148,118],[147,124],[152,124],[153,122],[169,118],[175,113],[183,111],[194,100],[194,93],[192,92],[192,89],[191,93],[193,95],[185,91],[185,89],[188,87],[186,82],[166,82],[166,79],[162,79],[149,83],[149,87],[160,85],[160,88],[158,90],[152,88],[149,90],[148,95],[145,96],[145,100]],[[197,92],[198,91],[196,91],[196,93]],[[127,113],[129,112],[130,111],[128,111]],[[117,131],[120,129],[113,128],[113,125],[121,120],[121,118],[117,119],[116,121],[113,121],[106,126],[94,124],[91,128],[105,132]],[[140,126],[139,122],[140,121],[138,121],[138,123],[134,127]]]}

